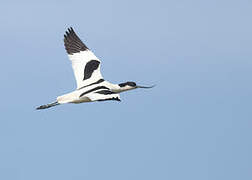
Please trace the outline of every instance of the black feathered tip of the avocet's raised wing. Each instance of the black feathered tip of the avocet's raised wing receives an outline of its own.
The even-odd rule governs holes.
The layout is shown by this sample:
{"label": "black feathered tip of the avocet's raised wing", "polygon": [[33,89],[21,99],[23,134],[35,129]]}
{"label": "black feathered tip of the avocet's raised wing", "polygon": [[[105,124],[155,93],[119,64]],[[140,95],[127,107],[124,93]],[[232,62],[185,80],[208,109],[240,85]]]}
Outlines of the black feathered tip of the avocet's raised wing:
{"label": "black feathered tip of the avocet's raised wing", "polygon": [[88,50],[88,47],[80,40],[72,27],[68,28],[68,31],[64,35],[64,45],[67,53],[71,55]]}

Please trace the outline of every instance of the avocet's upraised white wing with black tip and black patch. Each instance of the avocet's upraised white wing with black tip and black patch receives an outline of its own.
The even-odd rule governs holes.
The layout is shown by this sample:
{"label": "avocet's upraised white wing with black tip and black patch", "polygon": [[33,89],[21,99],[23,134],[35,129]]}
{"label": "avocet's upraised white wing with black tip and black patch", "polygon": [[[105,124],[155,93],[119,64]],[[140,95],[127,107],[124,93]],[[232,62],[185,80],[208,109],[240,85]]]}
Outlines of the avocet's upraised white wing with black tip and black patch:
{"label": "avocet's upraised white wing with black tip and black patch", "polygon": [[100,72],[100,60],[80,40],[73,28],[66,31],[64,45],[68,57],[72,61],[77,89],[103,80]]}

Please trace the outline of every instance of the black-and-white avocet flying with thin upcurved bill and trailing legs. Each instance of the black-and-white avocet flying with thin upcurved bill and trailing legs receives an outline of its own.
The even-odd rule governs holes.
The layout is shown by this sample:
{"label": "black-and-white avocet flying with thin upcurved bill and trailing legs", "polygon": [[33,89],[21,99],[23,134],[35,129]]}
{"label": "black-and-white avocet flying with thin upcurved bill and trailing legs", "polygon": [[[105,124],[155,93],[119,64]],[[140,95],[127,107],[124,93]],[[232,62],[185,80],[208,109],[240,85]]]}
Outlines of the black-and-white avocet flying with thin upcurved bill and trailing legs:
{"label": "black-and-white avocet flying with thin upcurved bill and trailing legs", "polygon": [[121,101],[119,93],[136,88],[152,88],[139,86],[135,82],[112,84],[103,79],[100,72],[101,61],[88,49],[76,35],[73,28],[68,28],[64,35],[64,45],[77,83],[77,89],[71,93],[57,97],[57,101],[41,105],[36,109],[46,109],[65,103],[83,103],[92,101]]}

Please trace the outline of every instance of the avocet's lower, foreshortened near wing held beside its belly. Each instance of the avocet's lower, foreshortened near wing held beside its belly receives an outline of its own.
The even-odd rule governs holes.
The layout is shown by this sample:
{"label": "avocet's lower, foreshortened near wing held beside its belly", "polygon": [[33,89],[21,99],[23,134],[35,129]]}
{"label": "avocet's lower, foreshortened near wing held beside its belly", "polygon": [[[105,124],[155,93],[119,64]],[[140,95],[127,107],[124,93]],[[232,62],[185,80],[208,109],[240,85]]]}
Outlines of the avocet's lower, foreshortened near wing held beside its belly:
{"label": "avocet's lower, foreshortened near wing held beside its belly", "polygon": [[114,93],[107,89],[91,92],[85,96],[88,97],[91,101],[109,101],[109,100],[121,101],[119,94]]}

